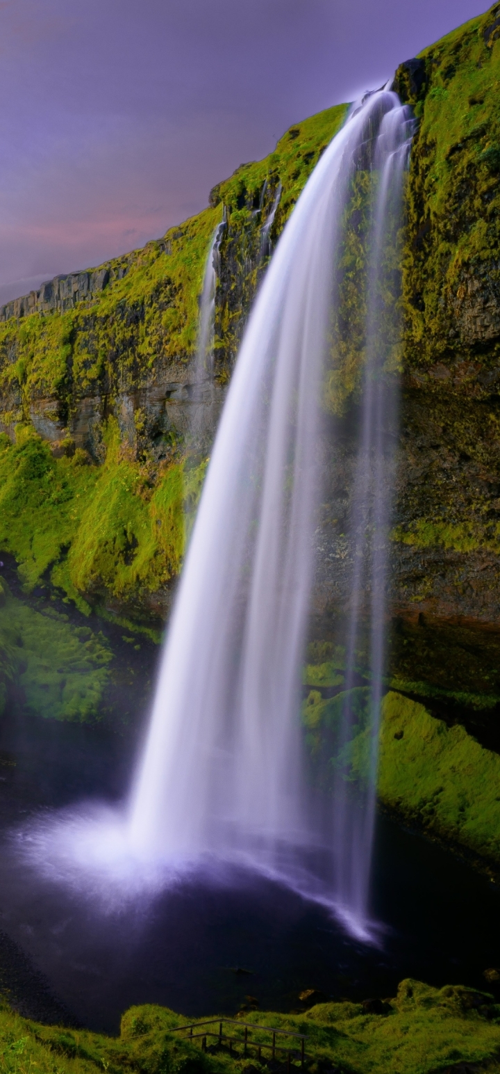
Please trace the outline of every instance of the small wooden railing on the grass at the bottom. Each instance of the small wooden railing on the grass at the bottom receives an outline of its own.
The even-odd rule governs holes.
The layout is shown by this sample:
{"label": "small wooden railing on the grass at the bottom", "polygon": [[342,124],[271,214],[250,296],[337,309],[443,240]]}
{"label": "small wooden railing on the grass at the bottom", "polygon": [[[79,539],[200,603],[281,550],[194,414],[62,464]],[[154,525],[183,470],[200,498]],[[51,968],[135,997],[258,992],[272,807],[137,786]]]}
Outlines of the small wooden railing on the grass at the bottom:
{"label": "small wooden railing on the grass at the bottom", "polygon": [[[218,1029],[206,1029],[207,1026],[217,1026]],[[237,1026],[239,1030],[244,1030],[244,1033],[239,1035],[231,1036],[230,1033],[224,1032],[224,1026]],[[194,1032],[196,1030],[196,1032]],[[306,1062],[306,1036],[304,1033],[292,1033],[288,1029],[274,1029],[273,1026],[259,1026],[254,1021],[236,1021],[234,1018],[209,1018],[207,1021],[195,1021],[190,1026],[178,1026],[174,1029],[174,1033],[188,1033],[188,1040],[193,1041],[196,1037],[202,1040],[202,1051],[207,1050],[207,1036],[216,1037],[216,1041],[220,1048],[226,1047],[230,1055],[236,1056],[248,1056],[249,1049],[253,1051],[256,1056],[259,1062],[262,1062],[265,1056],[262,1055],[263,1050],[270,1051],[270,1059],[277,1058],[277,1053],[285,1053],[286,1071],[290,1072],[292,1066],[295,1065],[297,1061],[300,1063],[300,1068],[304,1070]],[[253,1033],[269,1033],[269,1042],[251,1040],[251,1032]],[[296,1048],[286,1047],[286,1045],[277,1043],[277,1037],[293,1037],[299,1041],[300,1044]],[[238,1046],[242,1048],[238,1051]]]}

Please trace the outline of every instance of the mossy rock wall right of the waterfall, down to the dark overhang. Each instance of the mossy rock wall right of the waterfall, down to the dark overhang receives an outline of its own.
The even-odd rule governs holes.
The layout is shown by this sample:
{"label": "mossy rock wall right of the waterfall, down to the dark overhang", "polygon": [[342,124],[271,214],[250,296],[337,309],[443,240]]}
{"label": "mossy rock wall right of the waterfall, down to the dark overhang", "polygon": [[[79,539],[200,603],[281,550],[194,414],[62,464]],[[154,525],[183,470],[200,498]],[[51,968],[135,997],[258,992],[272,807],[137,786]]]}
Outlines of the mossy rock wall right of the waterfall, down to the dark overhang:
{"label": "mossy rock wall right of the waterfall, down to the dark overhang", "polygon": [[498,619],[499,5],[397,74],[418,116],[403,261],[394,601]]}

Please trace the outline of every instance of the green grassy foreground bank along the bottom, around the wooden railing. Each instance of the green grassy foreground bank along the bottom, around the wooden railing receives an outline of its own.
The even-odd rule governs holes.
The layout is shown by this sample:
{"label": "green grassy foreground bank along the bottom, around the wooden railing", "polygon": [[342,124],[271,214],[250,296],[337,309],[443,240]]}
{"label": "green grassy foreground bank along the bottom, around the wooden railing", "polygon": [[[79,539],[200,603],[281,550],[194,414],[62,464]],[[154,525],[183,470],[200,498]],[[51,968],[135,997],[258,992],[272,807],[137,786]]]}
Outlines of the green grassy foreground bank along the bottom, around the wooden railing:
{"label": "green grassy foreground bank along the bottom, around the wooden railing", "polygon": [[[268,1043],[259,1025],[306,1034],[307,1069],[317,1074],[334,1064],[351,1074],[430,1074],[451,1063],[489,1061],[500,1071],[500,1010],[491,997],[460,986],[431,988],[403,981],[386,1015],[367,1014],[361,1004],[322,1003],[304,1015],[252,1014],[251,1037]],[[41,1026],[0,1008],[0,1069],[3,1074],[92,1074],[109,1070],[141,1074],[237,1074],[265,1071],[256,1058],[227,1051],[202,1053],[176,1027],[182,1018],[165,1007],[131,1007],[119,1037],[85,1030]],[[233,1027],[234,1030],[234,1027]],[[242,1040],[242,1031],[239,1034]],[[285,1040],[285,1039],[284,1039]],[[209,1043],[209,1040],[208,1040]],[[239,1051],[242,1053],[240,1046]],[[299,1069],[293,1066],[292,1069]]]}

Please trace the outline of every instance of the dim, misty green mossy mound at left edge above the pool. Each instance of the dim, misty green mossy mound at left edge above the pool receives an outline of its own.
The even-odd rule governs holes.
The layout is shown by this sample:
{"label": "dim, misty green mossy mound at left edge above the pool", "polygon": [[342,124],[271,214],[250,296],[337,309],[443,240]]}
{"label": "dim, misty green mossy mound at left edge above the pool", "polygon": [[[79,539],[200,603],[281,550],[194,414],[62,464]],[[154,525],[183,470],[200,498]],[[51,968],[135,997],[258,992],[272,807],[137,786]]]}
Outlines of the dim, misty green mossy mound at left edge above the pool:
{"label": "dim, misty green mossy mound at left edge above the pool", "polygon": [[[112,653],[102,635],[16,599],[0,582],[0,702],[15,684],[30,715],[97,720]],[[1,709],[0,709],[1,711]]]}

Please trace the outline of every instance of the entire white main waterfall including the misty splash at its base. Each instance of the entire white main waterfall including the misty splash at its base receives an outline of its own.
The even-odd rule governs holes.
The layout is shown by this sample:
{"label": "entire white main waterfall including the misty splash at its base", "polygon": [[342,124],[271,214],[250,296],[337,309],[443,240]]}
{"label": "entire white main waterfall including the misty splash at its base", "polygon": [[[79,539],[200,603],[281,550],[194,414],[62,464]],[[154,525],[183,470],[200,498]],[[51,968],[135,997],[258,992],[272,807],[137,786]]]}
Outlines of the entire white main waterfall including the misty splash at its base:
{"label": "entire white main waterfall including the misty splash at its base", "polygon": [[[277,245],[220,421],[129,800],[121,810],[90,803],[50,814],[14,837],[17,853],[40,874],[85,891],[105,910],[138,896],[144,904],[148,892],[155,898],[189,876],[230,883],[232,869],[242,868],[328,908],[355,937],[373,939],[369,877],[397,416],[398,238],[412,128],[410,110],[388,90],[353,107]],[[337,763],[326,790],[318,792],[300,723],[300,668],[324,440],[327,431],[335,435],[320,400],[328,377],[334,386],[342,381],[350,335],[342,307],[345,224],[361,175],[368,184],[359,296],[366,315],[361,371],[351,371],[361,417],[345,691],[330,728]],[[203,315],[216,284],[208,276],[205,351],[210,328]],[[349,369],[343,374],[349,379]],[[367,623],[362,719],[352,698]]]}

